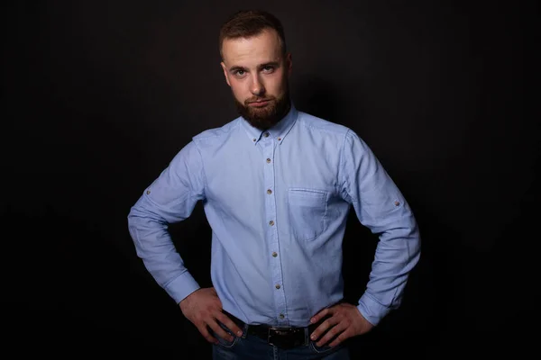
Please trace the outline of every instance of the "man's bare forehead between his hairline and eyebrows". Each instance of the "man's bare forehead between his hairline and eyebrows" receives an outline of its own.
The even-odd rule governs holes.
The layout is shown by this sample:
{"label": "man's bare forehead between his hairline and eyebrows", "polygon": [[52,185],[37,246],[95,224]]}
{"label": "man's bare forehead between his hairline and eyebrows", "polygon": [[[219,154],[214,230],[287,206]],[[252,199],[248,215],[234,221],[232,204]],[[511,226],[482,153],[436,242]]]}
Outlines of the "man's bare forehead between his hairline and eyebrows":
{"label": "man's bare forehead between his hairline and eyebrows", "polygon": [[222,53],[227,67],[278,61],[281,56],[280,38],[276,31],[270,29],[249,38],[225,39]]}

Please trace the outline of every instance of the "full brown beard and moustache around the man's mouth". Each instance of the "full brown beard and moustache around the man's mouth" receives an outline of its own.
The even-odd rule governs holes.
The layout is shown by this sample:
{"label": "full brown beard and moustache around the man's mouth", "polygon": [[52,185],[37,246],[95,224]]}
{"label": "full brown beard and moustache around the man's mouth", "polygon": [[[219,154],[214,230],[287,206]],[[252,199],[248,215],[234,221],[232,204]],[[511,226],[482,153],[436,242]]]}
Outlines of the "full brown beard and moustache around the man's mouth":
{"label": "full brown beard and moustache around the man's mouth", "polygon": [[[258,100],[268,100],[265,106],[255,107],[249,103]],[[239,102],[234,97],[234,104],[237,112],[252,125],[259,130],[267,130],[277,124],[289,112],[291,102],[289,99],[289,86],[286,86],[286,91],[278,97],[275,96],[253,96],[246,99],[244,103]]]}

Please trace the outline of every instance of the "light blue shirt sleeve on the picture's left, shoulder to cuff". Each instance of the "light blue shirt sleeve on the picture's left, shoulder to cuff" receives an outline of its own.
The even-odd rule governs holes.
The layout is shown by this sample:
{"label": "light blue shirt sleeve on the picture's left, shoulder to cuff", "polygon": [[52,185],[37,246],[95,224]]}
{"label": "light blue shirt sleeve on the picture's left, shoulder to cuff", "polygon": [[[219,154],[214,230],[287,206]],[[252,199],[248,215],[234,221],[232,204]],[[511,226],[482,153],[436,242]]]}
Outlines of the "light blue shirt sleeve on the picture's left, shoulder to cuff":
{"label": "light blue shirt sleeve on the picture's left, shoulder to cuff", "polygon": [[128,214],[128,229],[144,266],[177,303],[199,285],[174,246],[168,224],[185,220],[205,198],[201,155],[193,141],[148,186]]}

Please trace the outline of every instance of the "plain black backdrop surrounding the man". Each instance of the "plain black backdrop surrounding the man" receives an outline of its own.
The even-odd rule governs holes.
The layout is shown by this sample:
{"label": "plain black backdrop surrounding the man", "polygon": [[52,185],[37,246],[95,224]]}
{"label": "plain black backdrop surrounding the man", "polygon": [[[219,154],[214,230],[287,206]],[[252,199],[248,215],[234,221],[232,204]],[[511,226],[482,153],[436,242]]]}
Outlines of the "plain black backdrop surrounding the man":
{"label": "plain black backdrop surrounding the man", "polygon": [[[536,66],[527,67],[539,43],[534,2],[3,6],[8,349],[77,358],[191,358],[191,349],[208,358],[210,347],[136,257],[126,216],[192,136],[237,116],[217,33],[246,7],[284,23],[298,109],[357,131],[417,215],[423,254],[403,306],[352,342],[353,358],[498,355],[533,339],[541,201],[538,85]],[[201,207],[171,233],[209,285]],[[376,239],[352,213],[344,241],[346,294],[356,300]]]}

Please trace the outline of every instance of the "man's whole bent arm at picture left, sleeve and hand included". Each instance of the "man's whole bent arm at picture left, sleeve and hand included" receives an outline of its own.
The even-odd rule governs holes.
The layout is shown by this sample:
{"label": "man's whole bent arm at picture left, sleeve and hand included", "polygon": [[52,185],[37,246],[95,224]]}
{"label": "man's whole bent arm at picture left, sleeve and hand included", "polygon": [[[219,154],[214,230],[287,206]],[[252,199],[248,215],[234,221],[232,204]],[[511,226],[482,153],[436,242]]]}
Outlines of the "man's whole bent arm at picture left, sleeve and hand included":
{"label": "man's whole bent arm at picture left, sleeve and hand included", "polygon": [[184,316],[208,341],[217,342],[216,336],[233,341],[217,321],[237,336],[241,329],[222,312],[214,288],[201,289],[189,274],[168,232],[169,223],[187,219],[197,201],[205,199],[205,183],[201,154],[192,141],[133,205],[128,227],[137,255]]}

